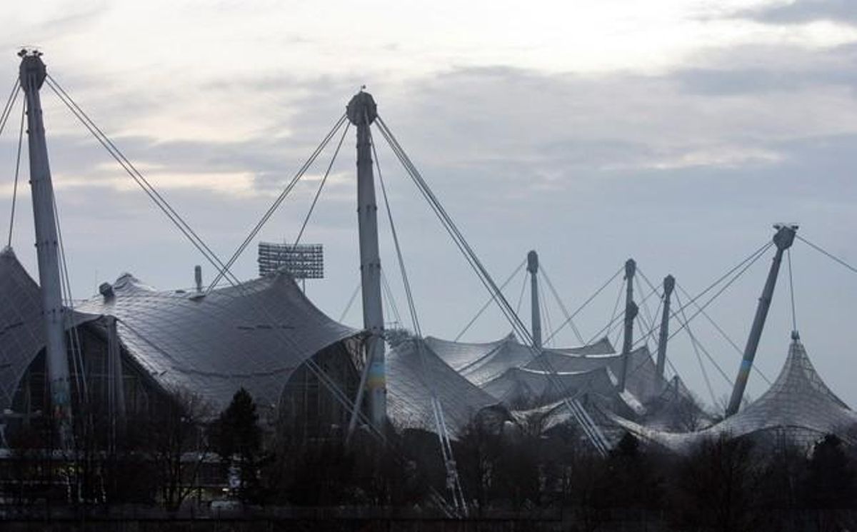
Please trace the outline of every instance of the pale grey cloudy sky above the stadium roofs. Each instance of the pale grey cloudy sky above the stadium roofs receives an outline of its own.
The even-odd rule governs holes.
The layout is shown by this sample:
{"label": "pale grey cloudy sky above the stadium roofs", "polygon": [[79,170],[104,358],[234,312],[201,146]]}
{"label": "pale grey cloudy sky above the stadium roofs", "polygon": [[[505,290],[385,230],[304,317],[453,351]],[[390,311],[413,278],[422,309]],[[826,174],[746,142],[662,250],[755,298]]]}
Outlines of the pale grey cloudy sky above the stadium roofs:
{"label": "pale grey cloudy sky above the stadium roofs", "polygon": [[[653,281],[673,273],[696,293],[782,221],[800,223],[801,235],[857,262],[855,5],[12,3],[0,15],[7,51],[0,87],[15,81],[15,51],[38,46],[51,75],[228,256],[365,84],[498,282],[534,248],[566,307],[577,308],[628,257]],[[192,284],[202,260],[195,249],[52,94],[45,91],[44,101],[75,297],[126,271],[164,289]],[[0,137],[3,235],[16,120]],[[307,290],[334,318],[358,281],[353,146],[350,135],[303,237],[325,245],[327,278]],[[454,338],[486,294],[393,154],[379,149],[423,331]],[[296,236],[331,153],[267,224],[264,239]],[[25,171],[13,247],[34,272],[26,178]],[[387,224],[381,231],[382,262],[405,314]],[[239,277],[255,276],[254,254],[255,242],[237,264]],[[854,405],[857,275],[800,242],[792,261],[807,350]],[[710,308],[741,347],[769,264],[770,254]],[[212,268],[203,269],[212,278]],[[522,283],[509,284],[513,304]],[[581,314],[584,336],[609,320],[618,289]],[[783,276],[757,358],[769,379],[788,348],[788,300]],[[553,301],[548,314],[560,323]],[[359,308],[345,321],[359,325]],[[732,379],[738,353],[702,318],[692,330]],[[508,331],[493,311],[464,338]],[[567,329],[555,342],[577,343]],[[728,393],[706,359],[713,393],[707,390],[684,333],[670,358],[704,400]],[[748,391],[765,386],[754,374]]]}

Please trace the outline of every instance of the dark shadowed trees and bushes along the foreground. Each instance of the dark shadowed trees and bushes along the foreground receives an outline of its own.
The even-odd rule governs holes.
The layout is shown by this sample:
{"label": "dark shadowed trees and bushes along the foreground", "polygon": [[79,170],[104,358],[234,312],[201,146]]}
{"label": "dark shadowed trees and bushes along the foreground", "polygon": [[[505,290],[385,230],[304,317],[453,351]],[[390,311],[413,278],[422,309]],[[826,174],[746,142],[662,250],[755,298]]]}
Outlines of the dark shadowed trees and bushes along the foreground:
{"label": "dark shadowed trees and bushes along the foreground", "polygon": [[[177,395],[159,415],[121,427],[110,445],[97,426],[81,429],[89,437],[78,438],[75,459],[45,453],[45,431],[16,433],[3,464],[3,517],[93,518],[132,507],[183,518],[269,520],[313,509],[325,509],[316,517],[444,517],[446,470],[431,433],[391,430],[384,445],[359,432],[347,446],[336,427],[312,440],[267,434],[243,391],[216,416]],[[500,529],[854,529],[854,451],[833,435],[808,450],[775,440],[711,439],[680,456],[626,434],[600,457],[574,427],[545,435],[474,421],[453,450],[469,517],[532,520]]]}

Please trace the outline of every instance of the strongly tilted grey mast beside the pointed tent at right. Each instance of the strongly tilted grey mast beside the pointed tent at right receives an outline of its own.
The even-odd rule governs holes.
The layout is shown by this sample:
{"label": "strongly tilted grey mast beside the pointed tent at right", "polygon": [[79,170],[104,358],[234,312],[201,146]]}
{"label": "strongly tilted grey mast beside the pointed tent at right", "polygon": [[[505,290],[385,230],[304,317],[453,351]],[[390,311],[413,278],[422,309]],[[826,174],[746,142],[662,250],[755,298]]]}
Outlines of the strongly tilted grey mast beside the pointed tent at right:
{"label": "strongly tilted grey mast beside the pointed tent at right", "polygon": [[774,234],[776,254],[774,254],[774,259],[770,264],[770,271],[768,272],[768,279],[764,283],[762,296],[758,298],[756,317],[752,320],[750,336],[747,338],[747,344],[744,348],[744,358],[741,360],[741,365],[738,369],[738,376],[735,378],[735,386],[732,389],[732,397],[729,398],[729,404],[726,408],[727,417],[738,412],[741,405],[741,399],[744,398],[744,389],[747,386],[747,378],[750,376],[753,359],[756,358],[758,340],[759,338],[762,338],[764,320],[768,317],[770,302],[774,297],[776,277],[780,273],[782,254],[786,249],[791,248],[792,243],[794,242],[794,234],[797,232],[798,226],[796,224],[776,224],[774,225],[774,229],[776,229],[776,233]]}

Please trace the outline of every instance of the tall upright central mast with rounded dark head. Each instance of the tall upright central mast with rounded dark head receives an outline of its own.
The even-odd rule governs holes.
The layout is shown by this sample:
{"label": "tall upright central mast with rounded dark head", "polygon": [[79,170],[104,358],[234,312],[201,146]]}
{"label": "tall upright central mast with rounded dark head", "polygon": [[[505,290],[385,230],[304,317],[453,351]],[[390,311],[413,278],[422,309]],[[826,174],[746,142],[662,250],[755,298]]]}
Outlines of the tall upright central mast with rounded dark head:
{"label": "tall upright central mast with rounded dark head", "polygon": [[384,311],[381,307],[381,256],[378,250],[378,205],[372,171],[369,126],[378,116],[375,99],[361,90],[348,103],[348,119],[357,127],[357,224],[360,233],[360,282],[363,292],[363,328],[366,332],[365,379],[357,394],[360,408],[363,389],[369,395],[369,417],[377,429],[387,420],[387,374],[384,368]]}

